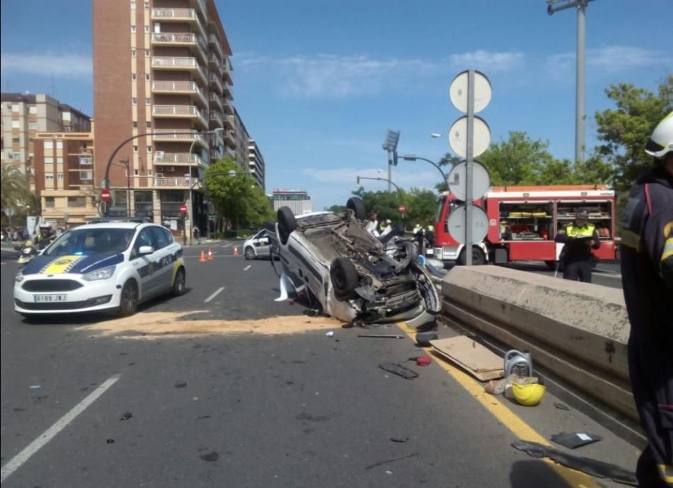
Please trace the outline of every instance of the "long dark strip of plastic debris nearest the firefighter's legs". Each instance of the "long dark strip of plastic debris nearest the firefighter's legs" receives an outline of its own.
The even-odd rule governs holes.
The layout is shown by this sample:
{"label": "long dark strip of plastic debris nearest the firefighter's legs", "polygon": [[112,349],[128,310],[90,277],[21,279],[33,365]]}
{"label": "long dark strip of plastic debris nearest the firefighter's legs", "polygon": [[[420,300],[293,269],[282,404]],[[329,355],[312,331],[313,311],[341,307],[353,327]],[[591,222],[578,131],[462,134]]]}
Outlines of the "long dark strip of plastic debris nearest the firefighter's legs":
{"label": "long dark strip of plastic debris nearest the firefighter's legs", "polygon": [[536,442],[514,441],[512,447],[538,459],[548,457],[554,462],[596,476],[597,478],[608,478],[614,482],[634,487],[638,485],[638,481],[635,479],[635,474],[632,471],[620,468],[615,464],[597,461],[588,457],[575,456]]}

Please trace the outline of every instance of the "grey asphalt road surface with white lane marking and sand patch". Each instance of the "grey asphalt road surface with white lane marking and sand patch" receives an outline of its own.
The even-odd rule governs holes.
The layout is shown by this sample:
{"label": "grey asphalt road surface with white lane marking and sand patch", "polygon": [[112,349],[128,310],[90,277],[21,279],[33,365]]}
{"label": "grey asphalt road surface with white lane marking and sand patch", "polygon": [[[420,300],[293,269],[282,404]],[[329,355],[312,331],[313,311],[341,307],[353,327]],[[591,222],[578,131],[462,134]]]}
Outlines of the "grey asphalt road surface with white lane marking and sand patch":
{"label": "grey asphalt road surface with white lane marking and sand patch", "polygon": [[[407,362],[422,353],[407,338],[338,325],[333,337],[285,333],[282,324],[309,320],[304,308],[274,302],[270,262],[234,257],[233,247],[214,245],[206,263],[201,248],[187,250],[188,293],[142,305],[121,326],[103,316],[22,321],[17,265],[2,253],[3,487],[577,486],[568,470],[511,447],[530,435],[517,422],[545,439],[599,434],[575,454],[635,468],[633,446],[554,408],[552,395],[526,408],[477,394],[476,381],[437,361]],[[248,322],[227,333],[269,317],[280,324],[273,335]],[[199,332],[213,321],[221,330]],[[379,369],[386,361],[420,376]]]}

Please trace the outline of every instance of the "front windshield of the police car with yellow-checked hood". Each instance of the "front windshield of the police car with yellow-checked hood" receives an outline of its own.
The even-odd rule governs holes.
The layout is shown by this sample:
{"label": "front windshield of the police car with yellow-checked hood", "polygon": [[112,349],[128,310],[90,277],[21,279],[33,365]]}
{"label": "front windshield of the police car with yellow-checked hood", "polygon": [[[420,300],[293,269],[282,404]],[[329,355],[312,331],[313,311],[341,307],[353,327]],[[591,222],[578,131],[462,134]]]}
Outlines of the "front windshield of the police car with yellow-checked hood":
{"label": "front windshield of the police car with yellow-checked hood", "polygon": [[56,239],[45,256],[110,256],[126,250],[135,229],[74,229]]}

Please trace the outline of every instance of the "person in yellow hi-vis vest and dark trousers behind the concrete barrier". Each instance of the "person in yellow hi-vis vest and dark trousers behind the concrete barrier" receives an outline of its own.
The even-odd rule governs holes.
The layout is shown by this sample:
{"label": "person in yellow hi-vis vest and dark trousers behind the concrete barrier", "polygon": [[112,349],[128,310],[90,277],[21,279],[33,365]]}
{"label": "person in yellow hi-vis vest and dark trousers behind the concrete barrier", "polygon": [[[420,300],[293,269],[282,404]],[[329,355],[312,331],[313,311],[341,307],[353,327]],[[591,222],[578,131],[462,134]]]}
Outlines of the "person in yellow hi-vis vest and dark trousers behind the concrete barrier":
{"label": "person in yellow hi-vis vest and dark trousers behind the concrete barrier", "polygon": [[564,265],[564,279],[591,283],[593,267],[592,249],[600,247],[596,226],[589,223],[586,211],[575,214],[575,222],[559,231],[554,241],[564,243],[561,262]]}

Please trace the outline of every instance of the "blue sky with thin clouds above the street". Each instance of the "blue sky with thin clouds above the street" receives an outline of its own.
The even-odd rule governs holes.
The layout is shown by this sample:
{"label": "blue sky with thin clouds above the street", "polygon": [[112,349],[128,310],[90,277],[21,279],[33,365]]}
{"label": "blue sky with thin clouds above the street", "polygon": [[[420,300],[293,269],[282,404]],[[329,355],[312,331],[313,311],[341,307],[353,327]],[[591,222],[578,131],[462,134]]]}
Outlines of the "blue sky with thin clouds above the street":
{"label": "blue sky with thin clouds above the street", "polygon": [[[234,103],[266,159],[269,192],[308,190],[315,208],[344,202],[357,174],[385,173],[388,128],[402,131],[401,154],[439,160],[448,142],[430,134],[446,134],[460,116],[448,86],[468,68],[493,86],[480,114],[492,141],[523,130],[549,141],[557,158],[573,158],[574,10],[549,16],[545,0],[215,3],[234,50]],[[0,8],[2,91],[52,93],[91,114],[90,1],[3,0]],[[589,3],[587,146],[596,144],[593,114],[610,107],[607,86],[654,90],[673,71],[671,18],[672,0]],[[432,188],[438,176],[423,162],[393,169],[403,188]]]}

